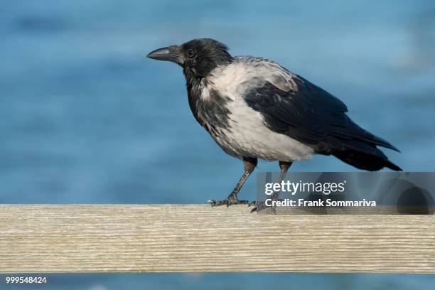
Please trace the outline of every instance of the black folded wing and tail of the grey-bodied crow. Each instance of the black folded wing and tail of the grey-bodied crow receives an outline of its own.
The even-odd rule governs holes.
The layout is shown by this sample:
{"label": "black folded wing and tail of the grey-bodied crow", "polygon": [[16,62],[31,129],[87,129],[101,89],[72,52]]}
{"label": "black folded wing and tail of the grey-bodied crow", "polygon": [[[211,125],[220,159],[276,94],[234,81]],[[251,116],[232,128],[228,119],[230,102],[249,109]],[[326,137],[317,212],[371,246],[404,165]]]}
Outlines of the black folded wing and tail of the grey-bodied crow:
{"label": "black folded wing and tail of the grey-bodied crow", "polygon": [[269,129],[357,168],[373,171],[387,166],[400,170],[376,146],[399,150],[355,124],[345,114],[348,109],[343,102],[299,75],[292,81],[294,90],[283,91],[266,82],[244,95],[249,107],[262,113]]}

